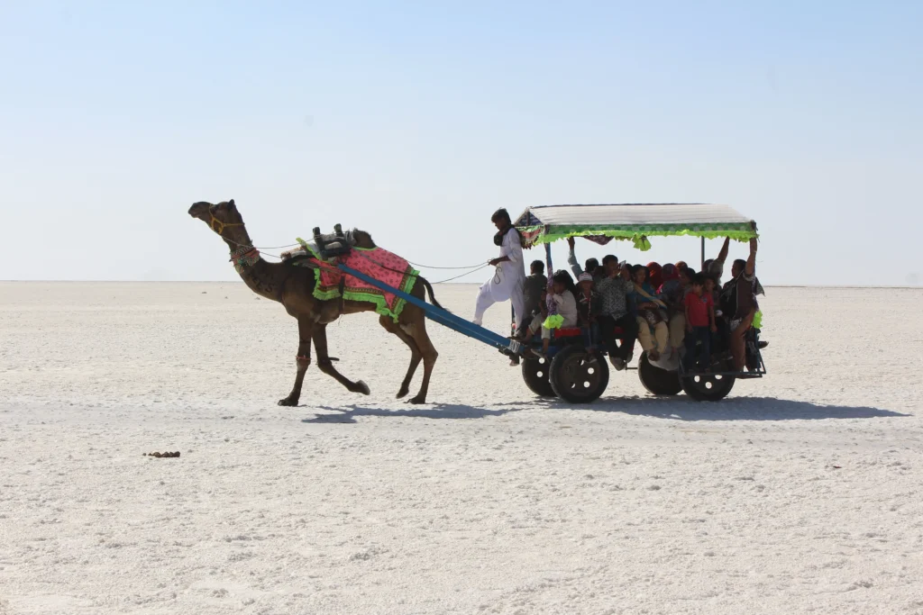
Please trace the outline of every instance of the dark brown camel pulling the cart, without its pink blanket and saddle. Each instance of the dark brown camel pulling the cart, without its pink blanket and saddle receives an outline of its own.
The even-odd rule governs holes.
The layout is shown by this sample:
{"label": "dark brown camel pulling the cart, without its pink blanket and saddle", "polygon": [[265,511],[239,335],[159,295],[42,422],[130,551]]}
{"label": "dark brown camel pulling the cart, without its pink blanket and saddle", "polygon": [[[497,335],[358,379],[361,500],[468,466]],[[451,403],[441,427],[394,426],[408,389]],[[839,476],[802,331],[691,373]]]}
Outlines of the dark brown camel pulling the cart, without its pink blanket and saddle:
{"label": "dark brown camel pulling the cart, without its pink blanket and saddle", "polygon": [[[354,393],[369,394],[368,385],[361,380],[353,382],[333,367],[333,359],[327,349],[327,325],[337,320],[342,314],[374,312],[375,305],[369,302],[318,301],[313,295],[314,270],[304,266],[294,266],[288,262],[268,263],[262,259],[253,247],[246,232],[244,219],[234,205],[234,199],[212,205],[198,202],[189,208],[189,215],[209,225],[231,249],[231,260],[240,273],[240,277],[250,290],[270,301],[280,302],[285,311],[298,321],[298,353],[295,358],[295,372],[292,392],[279,400],[280,406],[297,406],[301,397],[305,373],[311,364],[311,344],[318,355],[320,371],[332,376],[337,382]],[[365,231],[354,231],[357,245],[374,248],[375,242]],[[420,284],[414,284],[411,294],[426,301],[425,292],[429,293],[429,302],[439,306],[433,295],[433,287],[424,278],[417,277]],[[395,323],[390,316],[382,315],[378,322],[389,333],[400,337],[410,348],[411,359],[407,375],[404,376],[398,398],[407,396],[414,379],[414,372],[423,361],[423,384],[416,396],[408,401],[412,404],[425,404],[429,389],[429,378],[433,373],[438,352],[426,334],[426,317],[423,310],[408,302]]]}

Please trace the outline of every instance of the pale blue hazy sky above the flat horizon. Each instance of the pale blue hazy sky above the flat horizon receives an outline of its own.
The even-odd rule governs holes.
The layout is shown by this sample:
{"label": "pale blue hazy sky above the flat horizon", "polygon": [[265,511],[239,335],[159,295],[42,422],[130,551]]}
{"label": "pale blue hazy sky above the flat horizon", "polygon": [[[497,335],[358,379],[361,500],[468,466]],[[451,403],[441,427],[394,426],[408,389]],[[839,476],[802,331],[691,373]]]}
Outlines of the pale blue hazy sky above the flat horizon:
{"label": "pale blue hazy sky above the flat horizon", "polygon": [[[186,215],[234,198],[258,245],[339,221],[433,265],[495,255],[501,206],[726,203],[767,285],[917,284],[921,24],[920,2],[2,3],[0,279],[234,279]],[[653,243],[578,254],[697,261]]]}

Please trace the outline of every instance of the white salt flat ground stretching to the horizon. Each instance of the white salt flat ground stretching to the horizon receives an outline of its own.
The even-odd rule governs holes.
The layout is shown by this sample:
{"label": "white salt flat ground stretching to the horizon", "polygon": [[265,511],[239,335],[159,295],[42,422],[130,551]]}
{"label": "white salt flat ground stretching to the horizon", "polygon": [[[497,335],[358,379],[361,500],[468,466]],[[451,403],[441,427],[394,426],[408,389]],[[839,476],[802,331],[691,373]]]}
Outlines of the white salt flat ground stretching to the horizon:
{"label": "white salt flat ground stretching to the horizon", "polygon": [[0,284],[0,612],[923,613],[923,291],[769,292],[716,405],[536,400],[430,325],[408,407],[364,314],[330,348],[372,395],[278,408],[294,320],[241,283]]}

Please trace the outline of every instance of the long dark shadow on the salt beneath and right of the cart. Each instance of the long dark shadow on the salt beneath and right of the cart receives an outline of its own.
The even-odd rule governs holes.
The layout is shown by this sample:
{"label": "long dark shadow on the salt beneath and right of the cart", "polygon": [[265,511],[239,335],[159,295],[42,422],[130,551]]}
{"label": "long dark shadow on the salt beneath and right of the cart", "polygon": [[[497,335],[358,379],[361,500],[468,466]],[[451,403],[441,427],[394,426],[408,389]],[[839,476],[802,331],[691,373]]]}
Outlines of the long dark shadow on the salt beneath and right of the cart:
{"label": "long dark shadow on the salt beneath and right of the cart", "polygon": [[717,402],[699,402],[687,396],[631,396],[601,399],[582,408],[665,420],[886,419],[913,416],[881,408],[828,406],[776,397],[726,397]]}

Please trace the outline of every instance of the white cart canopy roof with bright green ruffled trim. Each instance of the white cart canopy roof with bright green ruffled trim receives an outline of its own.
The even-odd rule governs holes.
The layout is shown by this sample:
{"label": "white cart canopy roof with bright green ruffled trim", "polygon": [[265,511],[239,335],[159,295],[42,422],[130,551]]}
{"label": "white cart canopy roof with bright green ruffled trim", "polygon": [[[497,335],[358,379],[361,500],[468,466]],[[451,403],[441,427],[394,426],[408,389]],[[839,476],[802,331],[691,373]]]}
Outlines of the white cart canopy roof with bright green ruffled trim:
{"label": "white cart canopy roof with bright green ruffled trim", "polygon": [[752,219],[726,205],[704,203],[529,207],[513,226],[527,247],[567,237],[608,237],[631,240],[643,250],[650,247],[651,236],[730,237],[740,242],[757,236]]}

